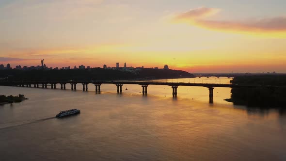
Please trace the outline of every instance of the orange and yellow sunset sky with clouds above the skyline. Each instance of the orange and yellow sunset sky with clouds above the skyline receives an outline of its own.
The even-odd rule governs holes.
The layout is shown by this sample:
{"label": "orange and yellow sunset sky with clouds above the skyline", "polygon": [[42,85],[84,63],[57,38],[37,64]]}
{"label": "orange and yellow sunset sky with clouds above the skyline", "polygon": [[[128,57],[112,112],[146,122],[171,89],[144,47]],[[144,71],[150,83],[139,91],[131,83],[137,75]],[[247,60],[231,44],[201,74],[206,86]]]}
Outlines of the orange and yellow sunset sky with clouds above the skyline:
{"label": "orange and yellow sunset sky with clouds above the skyline", "polygon": [[285,0],[0,0],[0,64],[286,73]]}

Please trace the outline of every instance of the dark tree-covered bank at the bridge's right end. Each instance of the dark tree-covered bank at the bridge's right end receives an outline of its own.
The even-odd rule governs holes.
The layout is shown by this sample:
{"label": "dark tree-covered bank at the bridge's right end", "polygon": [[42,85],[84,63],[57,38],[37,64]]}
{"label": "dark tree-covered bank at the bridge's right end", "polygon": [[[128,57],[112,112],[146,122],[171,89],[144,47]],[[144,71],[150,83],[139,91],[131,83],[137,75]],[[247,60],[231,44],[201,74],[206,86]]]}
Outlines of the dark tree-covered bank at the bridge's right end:
{"label": "dark tree-covered bank at the bridge's right end", "polygon": [[231,98],[226,100],[235,105],[259,108],[285,108],[286,106],[286,75],[239,76],[231,83],[261,85],[257,88],[232,88]]}

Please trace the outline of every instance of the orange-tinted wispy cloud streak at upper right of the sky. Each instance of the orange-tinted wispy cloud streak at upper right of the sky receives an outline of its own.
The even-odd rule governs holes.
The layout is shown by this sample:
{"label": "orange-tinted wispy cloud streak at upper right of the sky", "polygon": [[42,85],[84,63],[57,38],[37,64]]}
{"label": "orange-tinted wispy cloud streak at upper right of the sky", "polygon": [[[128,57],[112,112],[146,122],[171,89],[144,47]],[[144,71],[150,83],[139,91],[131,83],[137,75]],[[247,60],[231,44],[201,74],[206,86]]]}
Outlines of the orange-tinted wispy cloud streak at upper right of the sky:
{"label": "orange-tinted wispy cloud streak at upper right of the sky", "polygon": [[246,21],[209,19],[219,13],[219,9],[201,7],[179,14],[173,18],[175,23],[187,23],[193,26],[224,32],[241,32],[268,36],[286,36],[286,16]]}

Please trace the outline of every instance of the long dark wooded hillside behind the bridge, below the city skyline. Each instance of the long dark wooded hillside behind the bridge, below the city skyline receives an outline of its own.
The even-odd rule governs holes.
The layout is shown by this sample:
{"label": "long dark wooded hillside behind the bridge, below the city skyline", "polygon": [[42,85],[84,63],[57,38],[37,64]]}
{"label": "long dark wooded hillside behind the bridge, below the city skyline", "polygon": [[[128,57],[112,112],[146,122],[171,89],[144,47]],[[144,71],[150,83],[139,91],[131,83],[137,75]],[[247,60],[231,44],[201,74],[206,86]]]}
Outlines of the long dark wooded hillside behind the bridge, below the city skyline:
{"label": "long dark wooded hillside behind the bridge, below the city skyline", "polygon": [[0,70],[0,78],[6,81],[91,81],[91,80],[131,80],[131,79],[167,79],[193,78],[181,70],[142,69],[136,72],[121,70],[70,69],[70,70]]}

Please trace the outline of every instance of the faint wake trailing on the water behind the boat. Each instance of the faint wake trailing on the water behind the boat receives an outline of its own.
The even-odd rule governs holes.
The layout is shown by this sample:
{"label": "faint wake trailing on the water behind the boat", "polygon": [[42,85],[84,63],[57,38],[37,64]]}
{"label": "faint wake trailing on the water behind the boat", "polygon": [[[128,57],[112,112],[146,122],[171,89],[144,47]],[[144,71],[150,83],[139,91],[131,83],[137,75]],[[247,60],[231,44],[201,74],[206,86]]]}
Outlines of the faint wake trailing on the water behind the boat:
{"label": "faint wake trailing on the water behind the boat", "polygon": [[29,124],[34,124],[38,122],[43,122],[47,121],[50,119],[53,119],[56,117],[43,117],[43,118],[36,118],[36,119],[31,119],[31,120],[25,120],[25,121],[15,121],[15,122],[7,122],[7,123],[2,123],[0,124],[0,130],[1,129],[9,129],[9,128],[15,128],[19,126],[24,126],[24,125],[29,125]]}

